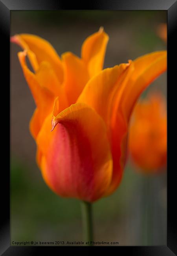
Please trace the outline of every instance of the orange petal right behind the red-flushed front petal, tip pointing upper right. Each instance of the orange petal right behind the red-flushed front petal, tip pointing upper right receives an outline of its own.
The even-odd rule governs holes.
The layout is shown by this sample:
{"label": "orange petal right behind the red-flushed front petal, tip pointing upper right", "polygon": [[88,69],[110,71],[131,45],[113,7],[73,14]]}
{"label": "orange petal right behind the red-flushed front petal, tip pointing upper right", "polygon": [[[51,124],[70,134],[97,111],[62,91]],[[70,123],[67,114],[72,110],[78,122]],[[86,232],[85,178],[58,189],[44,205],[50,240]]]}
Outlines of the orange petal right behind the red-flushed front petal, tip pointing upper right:
{"label": "orange petal right behind the red-flushed front petal, tip pointing upper right", "polygon": [[106,122],[108,129],[112,108],[121,91],[122,82],[131,70],[129,66],[130,63],[127,63],[102,70],[89,80],[77,100],[77,102],[83,102],[94,108]]}

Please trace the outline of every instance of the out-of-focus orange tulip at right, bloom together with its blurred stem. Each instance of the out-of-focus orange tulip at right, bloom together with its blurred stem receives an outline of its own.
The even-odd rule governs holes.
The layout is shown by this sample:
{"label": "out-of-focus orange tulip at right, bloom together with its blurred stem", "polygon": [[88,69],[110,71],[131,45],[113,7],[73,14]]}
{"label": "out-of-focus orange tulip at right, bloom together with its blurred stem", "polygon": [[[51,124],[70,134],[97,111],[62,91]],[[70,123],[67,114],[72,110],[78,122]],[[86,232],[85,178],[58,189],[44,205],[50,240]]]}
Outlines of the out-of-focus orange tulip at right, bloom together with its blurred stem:
{"label": "out-of-focus orange tulip at right, bloom together with its blurred stem", "polygon": [[[154,196],[152,177],[166,170],[167,115],[166,100],[160,92],[149,93],[133,111],[129,127],[129,153],[136,170],[142,174],[142,237],[146,245],[153,243],[154,212],[159,202]],[[161,210],[158,212],[160,217]]]}

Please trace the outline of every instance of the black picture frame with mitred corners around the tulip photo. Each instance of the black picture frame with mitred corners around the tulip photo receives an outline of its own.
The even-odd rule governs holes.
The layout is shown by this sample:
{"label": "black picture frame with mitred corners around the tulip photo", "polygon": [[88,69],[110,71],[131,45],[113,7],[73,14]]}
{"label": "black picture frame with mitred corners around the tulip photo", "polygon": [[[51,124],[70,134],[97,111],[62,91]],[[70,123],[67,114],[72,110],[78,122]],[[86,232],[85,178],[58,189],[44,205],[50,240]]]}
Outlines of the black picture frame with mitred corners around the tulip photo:
{"label": "black picture frame with mitred corners around the tulip photo", "polygon": [[[167,108],[168,108],[168,161],[167,161],[167,191],[168,191],[168,207],[167,207],[167,246],[118,246],[116,247],[116,253],[122,255],[127,253],[130,255],[146,255],[146,256],[172,256],[177,255],[177,212],[175,210],[175,193],[176,193],[176,115],[174,111],[176,109],[176,97],[175,87],[176,79],[175,73],[176,64],[173,64],[173,59],[176,60],[176,34],[177,34],[177,2],[175,0],[109,0],[94,2],[88,1],[88,5],[83,6],[83,2],[74,1],[70,5],[67,5],[66,1],[54,1],[54,0],[0,0],[0,37],[1,37],[1,81],[4,81],[1,85],[3,98],[5,95],[9,98],[10,87],[10,13],[12,10],[166,10],[168,17],[168,70],[167,70]],[[174,90],[174,91],[173,91]],[[2,102],[2,101],[1,101]],[[5,106],[6,105],[6,106]],[[2,106],[2,138],[4,138],[3,154],[1,161],[4,163],[4,155],[8,156],[10,143],[7,143],[9,136],[9,113],[4,113],[4,109],[8,112],[7,104]],[[10,108],[9,108],[10,109]],[[9,111],[10,112],[10,111]],[[8,126],[8,127],[4,127]],[[7,135],[5,133],[7,132]],[[5,167],[1,168],[1,223],[0,223],[0,253],[1,255],[38,255],[40,253],[47,255],[54,255],[61,250],[66,250],[68,253],[74,253],[80,249],[83,251],[85,247],[20,247],[10,246],[10,172],[7,168],[7,161],[5,161]],[[87,250],[92,248],[101,251],[105,250],[102,247],[87,247]],[[112,247],[109,247],[112,250]],[[114,247],[115,249],[115,247]]]}

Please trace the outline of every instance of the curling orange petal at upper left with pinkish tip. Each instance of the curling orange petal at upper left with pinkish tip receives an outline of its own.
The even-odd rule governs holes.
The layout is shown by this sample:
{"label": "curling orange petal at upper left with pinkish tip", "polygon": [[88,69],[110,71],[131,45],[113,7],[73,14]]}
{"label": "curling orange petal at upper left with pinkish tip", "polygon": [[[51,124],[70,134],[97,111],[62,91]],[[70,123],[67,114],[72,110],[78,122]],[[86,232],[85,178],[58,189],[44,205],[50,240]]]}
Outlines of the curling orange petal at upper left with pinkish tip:
{"label": "curling orange petal at upper left with pinkish tip", "polygon": [[[61,60],[53,46],[48,43],[48,41],[38,37],[37,35],[31,34],[14,35],[11,37],[11,41],[17,43],[24,50],[28,51],[28,54],[30,54],[29,59],[31,61],[31,65],[35,71],[37,70],[37,63],[40,64],[42,61],[47,61],[52,66],[59,83],[63,82],[63,66]],[[36,58],[37,63],[34,58]]]}

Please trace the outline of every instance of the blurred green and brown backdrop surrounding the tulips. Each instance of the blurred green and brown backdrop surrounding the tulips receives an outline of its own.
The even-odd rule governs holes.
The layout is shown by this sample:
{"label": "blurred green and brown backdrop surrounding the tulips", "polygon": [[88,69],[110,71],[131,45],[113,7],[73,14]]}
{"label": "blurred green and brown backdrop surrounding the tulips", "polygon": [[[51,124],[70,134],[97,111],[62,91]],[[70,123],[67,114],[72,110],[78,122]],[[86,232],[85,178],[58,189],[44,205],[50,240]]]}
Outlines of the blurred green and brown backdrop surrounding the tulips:
{"label": "blurred green and brown backdrop surrounding the tulips", "polygon": [[[166,11],[11,11],[11,35],[32,33],[50,41],[58,54],[80,56],[87,36],[104,27],[109,35],[104,67],[166,49],[157,26]],[[82,239],[80,202],[55,195],[44,183],[35,162],[35,141],[29,121],[35,109],[17,52],[11,44],[11,241],[79,241]],[[166,74],[143,93],[166,95]],[[116,192],[94,203],[95,241],[146,245],[145,204],[149,203],[148,245],[166,245],[166,173],[147,178],[128,160]]]}

